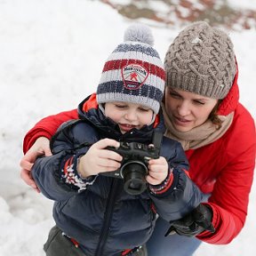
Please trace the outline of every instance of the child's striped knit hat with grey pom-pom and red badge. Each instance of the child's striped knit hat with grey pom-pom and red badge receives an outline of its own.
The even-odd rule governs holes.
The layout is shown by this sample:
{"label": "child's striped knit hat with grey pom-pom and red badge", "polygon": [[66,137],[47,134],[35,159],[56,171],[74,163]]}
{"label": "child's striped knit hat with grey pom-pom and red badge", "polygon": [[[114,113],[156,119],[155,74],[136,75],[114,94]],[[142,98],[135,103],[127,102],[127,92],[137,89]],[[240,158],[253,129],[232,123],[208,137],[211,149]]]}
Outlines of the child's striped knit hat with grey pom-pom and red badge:
{"label": "child's striped knit hat with grey pom-pom and red badge", "polygon": [[111,101],[137,103],[158,113],[164,95],[164,64],[152,47],[150,28],[127,28],[124,43],[117,45],[102,71],[97,88],[98,104]]}

